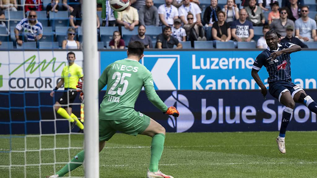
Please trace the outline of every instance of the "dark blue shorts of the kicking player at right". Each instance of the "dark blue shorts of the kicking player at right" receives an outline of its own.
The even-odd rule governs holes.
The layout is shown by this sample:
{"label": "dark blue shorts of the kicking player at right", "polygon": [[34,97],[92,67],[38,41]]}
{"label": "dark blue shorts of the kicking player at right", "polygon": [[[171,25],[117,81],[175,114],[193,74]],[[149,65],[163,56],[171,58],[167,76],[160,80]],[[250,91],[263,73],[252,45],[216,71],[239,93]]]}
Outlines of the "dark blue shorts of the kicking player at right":
{"label": "dark blue shorts of the kicking player at right", "polygon": [[268,91],[273,97],[278,99],[278,101],[280,101],[283,92],[289,91],[292,95],[292,98],[294,98],[295,93],[301,90],[303,89],[301,89],[300,86],[295,85],[292,82],[287,82],[282,80],[271,82],[268,85]]}

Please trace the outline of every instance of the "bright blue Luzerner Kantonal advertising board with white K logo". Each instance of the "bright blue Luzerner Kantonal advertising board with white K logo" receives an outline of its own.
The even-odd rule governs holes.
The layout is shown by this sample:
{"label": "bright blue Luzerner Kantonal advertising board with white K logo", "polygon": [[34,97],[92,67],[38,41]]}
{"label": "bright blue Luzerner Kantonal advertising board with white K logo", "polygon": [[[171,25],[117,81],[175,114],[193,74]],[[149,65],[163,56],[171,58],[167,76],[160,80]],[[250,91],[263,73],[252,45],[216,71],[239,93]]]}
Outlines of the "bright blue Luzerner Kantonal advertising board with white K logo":
{"label": "bright blue Luzerner Kantonal advertising board with white K logo", "polygon": [[[140,62],[152,73],[156,90],[259,89],[251,76],[261,51],[145,51]],[[317,51],[291,54],[292,81],[304,89],[316,88]],[[126,58],[126,51],[101,51],[100,72]],[[265,67],[259,72],[268,87]]]}

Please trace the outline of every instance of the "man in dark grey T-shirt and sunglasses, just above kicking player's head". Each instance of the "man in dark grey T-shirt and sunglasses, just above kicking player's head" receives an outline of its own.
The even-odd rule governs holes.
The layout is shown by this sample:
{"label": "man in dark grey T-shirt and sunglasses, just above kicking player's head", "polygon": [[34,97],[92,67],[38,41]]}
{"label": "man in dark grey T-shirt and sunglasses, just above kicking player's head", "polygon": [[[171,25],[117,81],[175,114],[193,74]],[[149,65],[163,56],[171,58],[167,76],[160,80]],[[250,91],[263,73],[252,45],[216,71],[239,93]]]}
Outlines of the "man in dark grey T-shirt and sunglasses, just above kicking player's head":
{"label": "man in dark grey T-shirt and sunglasses, just above kicking player's head", "polygon": [[281,38],[284,38],[286,36],[287,26],[289,25],[292,27],[295,26],[294,22],[288,19],[287,17],[288,17],[288,9],[286,7],[282,7],[280,9],[280,19],[277,19],[270,24],[270,28],[272,30],[275,30],[277,33],[282,35]]}

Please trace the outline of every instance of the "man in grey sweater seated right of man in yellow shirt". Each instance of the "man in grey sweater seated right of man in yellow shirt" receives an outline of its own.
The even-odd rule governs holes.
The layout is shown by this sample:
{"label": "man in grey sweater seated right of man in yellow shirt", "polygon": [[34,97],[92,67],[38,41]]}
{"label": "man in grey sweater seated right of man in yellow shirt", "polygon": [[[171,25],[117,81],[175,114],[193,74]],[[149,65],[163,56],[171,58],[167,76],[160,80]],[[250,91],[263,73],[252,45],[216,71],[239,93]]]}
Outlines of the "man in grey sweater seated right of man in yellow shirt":
{"label": "man in grey sweater seated right of man in yellow shirt", "polygon": [[159,26],[158,8],[153,5],[153,0],[146,0],[144,6],[139,9],[140,25]]}

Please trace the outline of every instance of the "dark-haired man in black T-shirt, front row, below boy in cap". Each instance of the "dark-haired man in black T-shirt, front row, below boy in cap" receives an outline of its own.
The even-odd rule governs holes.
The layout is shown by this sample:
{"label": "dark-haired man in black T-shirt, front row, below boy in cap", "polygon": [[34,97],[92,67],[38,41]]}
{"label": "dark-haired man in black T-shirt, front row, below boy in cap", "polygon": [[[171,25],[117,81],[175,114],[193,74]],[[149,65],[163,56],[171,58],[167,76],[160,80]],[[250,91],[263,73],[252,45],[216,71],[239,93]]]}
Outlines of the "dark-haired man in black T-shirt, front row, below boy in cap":
{"label": "dark-haired man in black T-shirt, front row, below boy in cap", "polygon": [[182,44],[178,41],[178,39],[171,36],[171,34],[172,34],[171,27],[169,26],[164,27],[163,33],[159,34],[156,38],[157,39],[156,47],[159,49],[173,48],[174,45],[176,45],[177,49],[182,49],[183,48]]}

